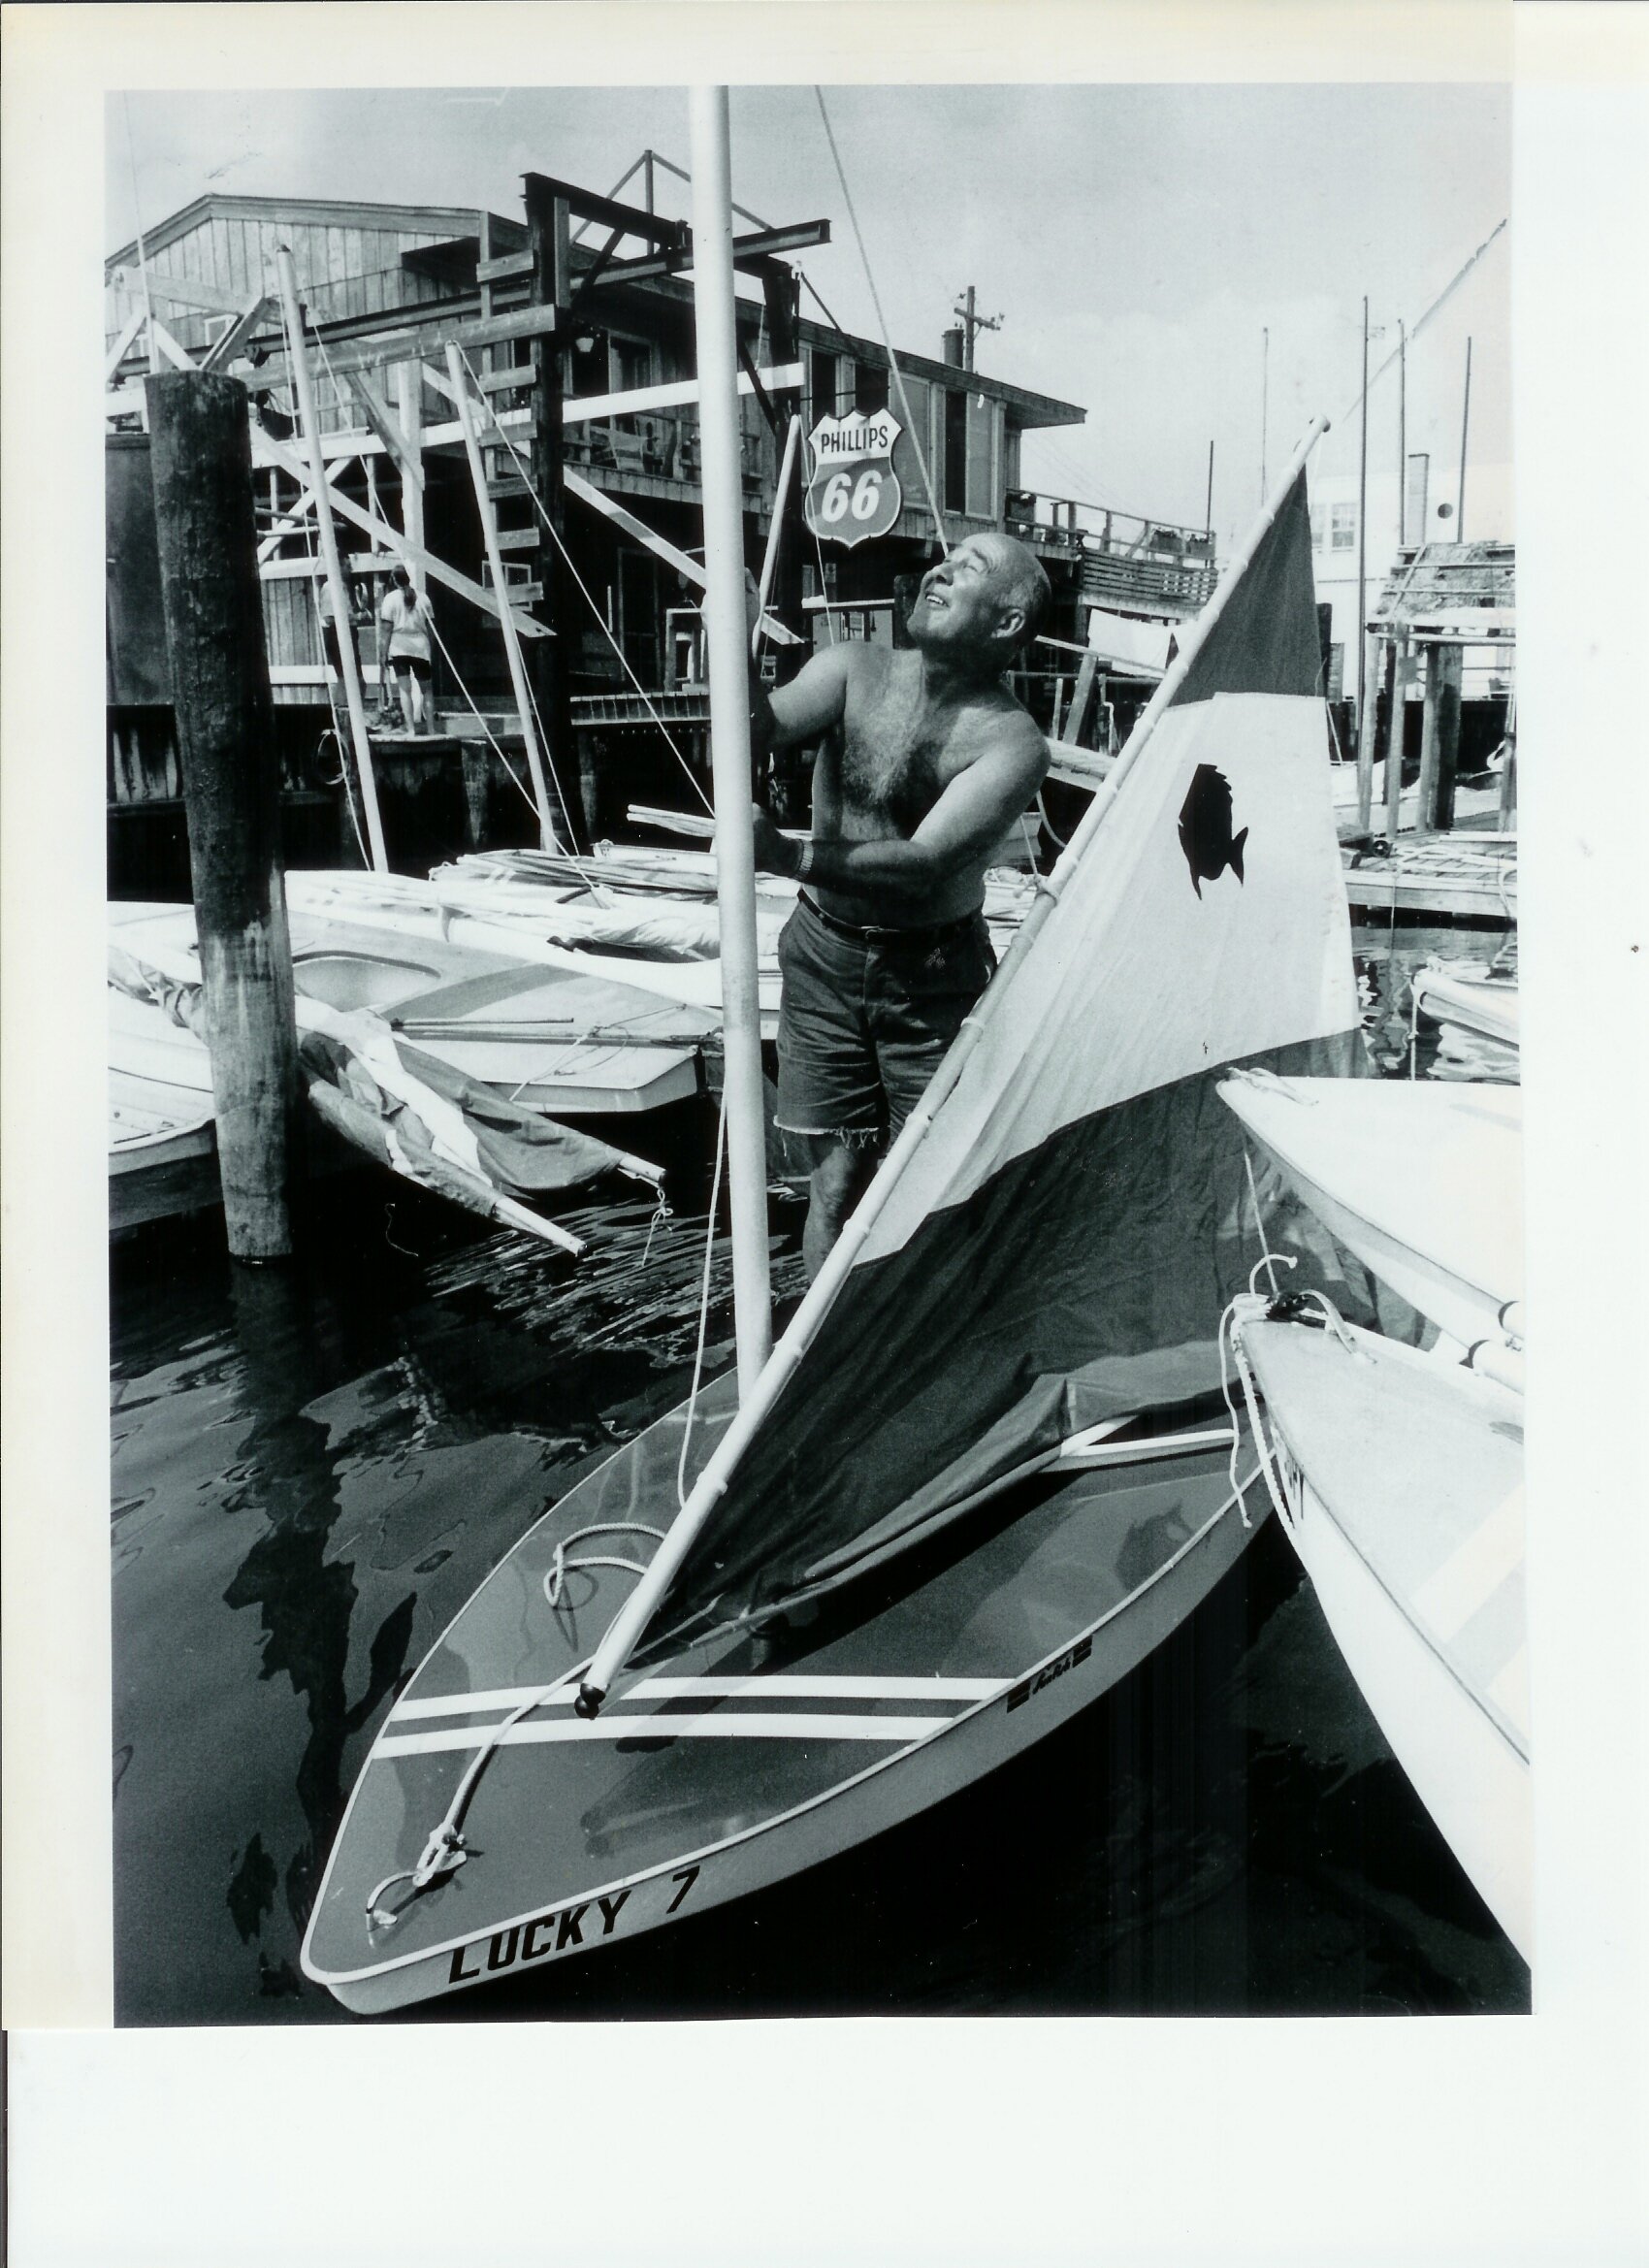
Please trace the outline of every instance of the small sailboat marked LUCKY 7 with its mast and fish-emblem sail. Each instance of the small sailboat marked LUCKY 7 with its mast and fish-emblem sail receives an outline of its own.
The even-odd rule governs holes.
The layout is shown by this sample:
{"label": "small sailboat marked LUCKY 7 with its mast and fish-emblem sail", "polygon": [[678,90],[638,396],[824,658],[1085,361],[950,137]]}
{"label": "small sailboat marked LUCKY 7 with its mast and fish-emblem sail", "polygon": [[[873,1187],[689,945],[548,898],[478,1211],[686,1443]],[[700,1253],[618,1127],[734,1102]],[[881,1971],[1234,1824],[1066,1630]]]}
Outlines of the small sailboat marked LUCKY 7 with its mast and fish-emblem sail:
{"label": "small sailboat marked LUCKY 7 with its mast and fish-emblem sail", "polygon": [[551,1506],[395,1696],[302,1955],[356,2012],[794,1876],[1136,1667],[1250,1535],[1254,1456],[1225,1413],[1218,1320],[1257,1245],[1216,1080],[1356,1061],[1316,699],[1313,429],[767,1354],[749,1300],[755,934],[749,878],[744,909],[730,887],[749,769],[726,200],[726,93],[703,91],[737,1374]]}

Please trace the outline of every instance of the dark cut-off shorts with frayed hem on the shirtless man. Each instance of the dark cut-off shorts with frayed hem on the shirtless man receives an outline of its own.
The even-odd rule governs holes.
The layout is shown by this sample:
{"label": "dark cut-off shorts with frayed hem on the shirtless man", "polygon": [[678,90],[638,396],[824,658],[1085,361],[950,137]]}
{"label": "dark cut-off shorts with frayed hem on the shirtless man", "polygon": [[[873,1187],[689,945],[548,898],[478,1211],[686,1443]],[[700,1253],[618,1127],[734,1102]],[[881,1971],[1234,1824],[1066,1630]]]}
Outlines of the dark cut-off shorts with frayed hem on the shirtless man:
{"label": "dark cut-off shorts with frayed hem on the shirtless man", "polygon": [[778,966],[778,1125],[873,1150],[910,1118],[996,955],[982,914],[857,930],[801,896]]}

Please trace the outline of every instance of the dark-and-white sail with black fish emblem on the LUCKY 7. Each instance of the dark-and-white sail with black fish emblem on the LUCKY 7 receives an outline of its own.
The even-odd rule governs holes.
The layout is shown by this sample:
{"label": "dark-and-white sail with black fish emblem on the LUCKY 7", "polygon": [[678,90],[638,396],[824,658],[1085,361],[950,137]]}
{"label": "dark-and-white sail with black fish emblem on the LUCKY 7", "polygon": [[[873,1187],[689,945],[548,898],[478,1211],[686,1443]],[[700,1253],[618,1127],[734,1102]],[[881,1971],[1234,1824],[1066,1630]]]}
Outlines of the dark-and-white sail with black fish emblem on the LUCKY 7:
{"label": "dark-and-white sail with black fish emblem on the LUCKY 7", "polygon": [[1259,1245],[1232,1064],[1354,1068],[1304,472],[887,1191],[653,1631],[930,1538],[1105,1415],[1218,1386]]}

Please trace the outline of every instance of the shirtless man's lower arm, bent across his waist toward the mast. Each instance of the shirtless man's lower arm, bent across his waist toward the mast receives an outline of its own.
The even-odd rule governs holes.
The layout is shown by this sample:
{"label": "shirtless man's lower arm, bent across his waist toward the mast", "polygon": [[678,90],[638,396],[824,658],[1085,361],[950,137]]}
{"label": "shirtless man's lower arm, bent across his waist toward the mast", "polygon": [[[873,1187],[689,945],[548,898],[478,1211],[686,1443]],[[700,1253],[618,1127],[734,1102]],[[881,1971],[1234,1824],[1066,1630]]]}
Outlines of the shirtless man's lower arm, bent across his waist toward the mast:
{"label": "shirtless man's lower arm, bent across his waist toward the mast", "polygon": [[987,755],[959,771],[921,821],[900,841],[796,844],[755,814],[755,864],[764,873],[787,873],[876,898],[925,903],[937,889],[966,873],[1003,839],[1048,773],[1048,744],[1025,717]]}

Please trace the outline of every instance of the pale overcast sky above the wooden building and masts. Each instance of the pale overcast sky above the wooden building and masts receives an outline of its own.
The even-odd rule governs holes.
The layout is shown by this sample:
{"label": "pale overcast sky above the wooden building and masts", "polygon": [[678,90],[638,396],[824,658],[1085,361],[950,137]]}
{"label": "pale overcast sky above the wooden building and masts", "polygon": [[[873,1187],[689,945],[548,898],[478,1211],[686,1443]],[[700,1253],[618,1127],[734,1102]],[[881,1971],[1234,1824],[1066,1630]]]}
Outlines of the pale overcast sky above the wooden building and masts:
{"label": "pale overcast sky above the wooden building and masts", "polygon": [[[980,370],[1089,413],[1028,440],[1025,479],[1200,524],[1214,442],[1225,540],[1259,499],[1261,365],[1275,474],[1311,415],[1356,397],[1363,295],[1377,367],[1397,318],[1413,324],[1511,209],[1499,86],[837,86],[826,102],[894,347],[937,354],[973,284],[1003,315]],[[687,163],[680,88],[113,98],[109,249],[134,213],[152,227],[211,188],[517,215],[528,168],[608,191],[649,145]],[[801,265],[873,336],[812,88],[735,88],[733,193],[764,220],[832,220]],[[660,175],[665,211],[687,195]],[[1472,460],[1508,463],[1504,236],[1409,356],[1409,447],[1438,467],[1458,463],[1468,333]],[[1370,401],[1370,458],[1397,460],[1393,379]],[[1318,463],[1356,467],[1356,417]]]}

